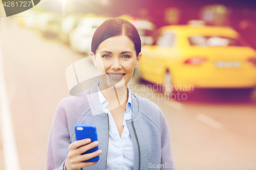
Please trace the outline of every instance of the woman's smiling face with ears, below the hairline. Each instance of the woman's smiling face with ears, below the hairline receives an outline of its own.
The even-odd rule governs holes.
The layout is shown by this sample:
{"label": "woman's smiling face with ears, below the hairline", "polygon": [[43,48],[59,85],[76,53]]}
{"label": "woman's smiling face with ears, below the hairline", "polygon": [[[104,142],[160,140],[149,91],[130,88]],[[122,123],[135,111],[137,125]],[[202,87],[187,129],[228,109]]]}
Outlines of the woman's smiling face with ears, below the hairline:
{"label": "woman's smiling face with ears, below the hairline", "polygon": [[[134,68],[138,67],[141,53],[136,56],[135,46],[127,36],[120,35],[102,41],[96,51],[93,62],[98,67],[103,82],[110,86],[119,82],[125,86],[133,76]],[[121,83],[121,84],[123,84]]]}

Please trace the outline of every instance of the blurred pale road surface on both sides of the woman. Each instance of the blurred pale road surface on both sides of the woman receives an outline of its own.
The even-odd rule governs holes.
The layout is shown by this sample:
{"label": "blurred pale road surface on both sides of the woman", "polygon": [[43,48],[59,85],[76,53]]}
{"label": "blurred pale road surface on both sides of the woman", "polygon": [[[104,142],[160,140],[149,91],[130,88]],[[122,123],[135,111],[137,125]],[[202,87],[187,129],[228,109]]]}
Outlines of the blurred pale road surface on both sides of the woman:
{"label": "blurred pale road surface on both sides of the woman", "polygon": [[[70,96],[66,68],[84,56],[58,40],[43,38],[36,30],[20,27],[14,17],[1,17],[0,22],[0,53],[20,169],[44,170],[55,109]],[[142,84],[148,82],[138,85]],[[135,87],[137,82],[131,80],[128,85]],[[161,93],[135,88],[133,92],[144,96]],[[205,89],[188,94],[184,101],[151,98],[167,119],[177,169],[193,168],[187,164],[196,164],[197,169],[205,169],[204,164],[216,164],[207,169],[229,169],[229,163],[230,168],[238,163],[236,169],[245,169],[244,163],[250,163],[251,169],[256,169],[256,165],[252,168],[256,162],[256,104],[246,100],[246,93]],[[4,169],[3,160],[0,135],[0,169]]]}

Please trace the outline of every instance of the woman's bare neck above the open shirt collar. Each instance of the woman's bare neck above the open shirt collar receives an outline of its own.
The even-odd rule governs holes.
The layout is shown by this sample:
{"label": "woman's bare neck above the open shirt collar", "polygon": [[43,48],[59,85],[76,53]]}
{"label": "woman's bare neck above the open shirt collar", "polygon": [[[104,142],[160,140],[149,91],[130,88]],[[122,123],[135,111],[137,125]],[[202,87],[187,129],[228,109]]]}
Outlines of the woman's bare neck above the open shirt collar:
{"label": "woman's bare neck above the open shirt collar", "polygon": [[115,86],[109,88],[108,85],[100,83],[99,89],[104,95],[106,101],[109,102],[109,105],[106,107],[107,109],[112,110],[120,107],[121,105],[126,107],[127,99],[129,96],[126,84],[119,86],[118,88],[116,88]]}

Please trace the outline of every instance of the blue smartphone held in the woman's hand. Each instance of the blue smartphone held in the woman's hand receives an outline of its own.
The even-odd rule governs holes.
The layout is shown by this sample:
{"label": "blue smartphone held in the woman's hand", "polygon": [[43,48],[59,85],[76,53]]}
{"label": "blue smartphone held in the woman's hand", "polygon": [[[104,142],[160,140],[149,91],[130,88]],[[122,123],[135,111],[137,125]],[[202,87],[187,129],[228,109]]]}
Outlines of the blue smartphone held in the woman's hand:
{"label": "blue smartphone held in the woman's hand", "polygon": [[[86,138],[90,138],[92,140],[91,142],[98,140],[96,126],[93,124],[77,124],[75,126],[75,133],[76,133],[76,140],[82,140]],[[82,153],[81,155],[92,153],[97,150],[99,150],[98,146]],[[98,162],[98,161],[99,161],[99,156],[96,156],[94,158],[91,158],[82,162]]]}

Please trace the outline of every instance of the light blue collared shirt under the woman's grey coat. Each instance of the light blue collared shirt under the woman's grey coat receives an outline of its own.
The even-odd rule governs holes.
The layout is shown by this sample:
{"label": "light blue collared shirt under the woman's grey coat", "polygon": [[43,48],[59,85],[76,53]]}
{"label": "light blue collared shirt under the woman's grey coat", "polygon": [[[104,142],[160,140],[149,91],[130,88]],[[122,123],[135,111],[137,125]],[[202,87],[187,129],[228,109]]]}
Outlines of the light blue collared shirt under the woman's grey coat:
{"label": "light blue collared shirt under the woman's grey coat", "polygon": [[134,167],[134,148],[130,132],[127,128],[125,119],[132,118],[132,99],[131,99],[131,90],[128,89],[128,101],[126,104],[126,111],[123,116],[123,131],[121,137],[118,133],[115,121],[109,109],[106,109],[106,106],[109,105],[109,102],[106,101],[104,95],[98,88],[99,101],[104,112],[109,113],[110,120],[110,136],[109,136],[109,148],[108,148],[108,158],[106,162],[107,170],[130,170]]}

